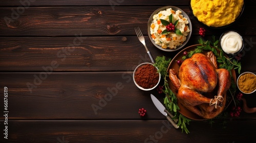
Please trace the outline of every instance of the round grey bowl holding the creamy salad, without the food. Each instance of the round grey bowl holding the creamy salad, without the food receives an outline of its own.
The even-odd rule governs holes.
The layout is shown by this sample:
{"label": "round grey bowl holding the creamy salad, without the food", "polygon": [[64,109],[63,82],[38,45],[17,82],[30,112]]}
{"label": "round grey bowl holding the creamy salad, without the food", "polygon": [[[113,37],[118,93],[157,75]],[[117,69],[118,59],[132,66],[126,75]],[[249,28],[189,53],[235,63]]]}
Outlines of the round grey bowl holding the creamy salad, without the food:
{"label": "round grey bowl holding the creamy salad, without the food", "polygon": [[[184,17],[187,18],[187,21],[188,21],[188,27],[189,27],[189,34],[186,36],[186,40],[182,43],[182,45],[178,46],[176,49],[163,49],[160,45],[156,44],[155,41],[153,40],[153,38],[151,37],[151,33],[150,33],[150,26],[151,26],[151,22],[153,21],[153,16],[157,13],[159,13],[160,11],[162,10],[166,10],[168,8],[172,8],[173,10],[177,11],[177,10],[180,10],[182,13],[182,15]],[[166,51],[166,52],[173,52],[173,51],[177,51],[177,50],[180,50],[182,47],[184,47],[186,45],[186,43],[188,42],[190,36],[191,36],[191,33],[192,33],[192,24],[191,24],[191,21],[188,17],[188,15],[180,8],[178,7],[174,7],[174,6],[165,6],[165,7],[161,7],[159,9],[157,9],[155,12],[152,13],[152,15],[150,16],[150,19],[148,20],[147,22],[147,34],[148,34],[148,37],[150,37],[150,40],[151,42],[160,50],[162,51]]]}

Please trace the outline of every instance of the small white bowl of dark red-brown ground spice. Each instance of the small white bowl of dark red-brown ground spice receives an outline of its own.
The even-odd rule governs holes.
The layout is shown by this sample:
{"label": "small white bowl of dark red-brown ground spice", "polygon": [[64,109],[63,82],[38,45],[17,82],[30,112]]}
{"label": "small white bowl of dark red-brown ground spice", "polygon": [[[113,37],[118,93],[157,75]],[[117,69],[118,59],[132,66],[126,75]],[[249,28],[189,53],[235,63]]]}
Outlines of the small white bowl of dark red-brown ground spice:
{"label": "small white bowl of dark red-brown ground spice", "polygon": [[161,75],[158,68],[152,63],[142,63],[138,65],[133,73],[135,85],[142,90],[152,90],[160,82]]}

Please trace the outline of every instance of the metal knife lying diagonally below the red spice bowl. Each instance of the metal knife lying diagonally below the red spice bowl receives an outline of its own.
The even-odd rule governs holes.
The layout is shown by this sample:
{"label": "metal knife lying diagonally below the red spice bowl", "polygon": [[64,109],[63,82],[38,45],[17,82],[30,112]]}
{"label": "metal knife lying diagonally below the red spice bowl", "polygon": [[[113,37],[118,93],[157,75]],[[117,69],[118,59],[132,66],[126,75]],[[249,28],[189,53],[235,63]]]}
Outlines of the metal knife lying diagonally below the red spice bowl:
{"label": "metal knife lying diagonally below the red spice bowl", "polygon": [[155,104],[155,106],[157,107],[157,109],[167,118],[167,120],[170,122],[170,124],[172,124],[174,126],[174,128],[178,129],[179,126],[177,126],[177,124],[175,123],[175,122],[177,122],[177,119],[175,121],[172,119],[172,117],[174,117],[174,115],[169,113],[165,109],[163,104],[155,96],[153,96],[153,94],[151,94],[151,99],[152,99],[153,103]]}

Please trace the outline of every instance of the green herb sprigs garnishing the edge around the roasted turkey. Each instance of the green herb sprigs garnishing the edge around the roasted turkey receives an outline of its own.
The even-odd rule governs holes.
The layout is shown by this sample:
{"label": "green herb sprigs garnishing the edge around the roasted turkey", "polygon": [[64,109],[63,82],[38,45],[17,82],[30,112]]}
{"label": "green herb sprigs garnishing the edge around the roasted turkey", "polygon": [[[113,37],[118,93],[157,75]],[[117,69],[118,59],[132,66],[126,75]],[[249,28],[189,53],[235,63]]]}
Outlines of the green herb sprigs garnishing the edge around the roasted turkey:
{"label": "green herb sprigs garnishing the edge around the roasted turkey", "polygon": [[[238,73],[240,74],[241,63],[238,62],[237,60],[234,60],[232,58],[228,58],[224,55],[224,52],[218,46],[219,40],[215,40],[215,36],[212,36],[212,41],[203,41],[200,38],[198,40],[198,42],[201,45],[197,46],[197,48],[194,51],[188,52],[186,56],[182,57],[182,60],[190,58],[191,56],[193,56],[196,53],[202,53],[203,50],[209,50],[209,51],[212,51],[215,54],[215,56],[217,58],[217,61],[219,63],[219,68],[227,69],[230,72],[230,75],[232,75],[231,74],[232,69],[237,69]],[[175,96],[175,93],[169,88],[169,85],[168,85],[167,78],[169,78],[169,76],[168,76],[168,73],[167,73],[167,67],[168,67],[169,62],[170,62],[170,59],[165,61],[165,57],[162,56],[162,57],[157,57],[156,58],[156,63],[155,63],[155,66],[158,67],[160,74],[163,75],[162,77],[164,78],[164,87],[165,87],[163,89],[163,93],[165,93],[164,104],[165,104],[165,107],[168,109],[168,111],[170,111],[174,114],[174,119],[178,119],[177,124],[182,129],[182,132],[185,131],[188,134],[189,130],[187,129],[187,125],[189,125],[190,119],[183,116],[182,114],[180,114],[180,112],[178,112],[178,110],[180,108],[177,104],[177,98]],[[236,102],[238,102],[238,101],[234,100],[234,94],[235,93],[236,93],[236,84],[234,83],[233,78],[231,78],[231,86],[230,86],[229,92],[227,92],[227,94],[228,95],[231,94],[231,100],[234,101],[234,105],[236,106]],[[227,96],[227,101],[230,101],[230,96]],[[227,105],[227,107],[228,107],[228,105]],[[224,110],[226,110],[227,107]],[[225,117],[227,117],[227,113],[223,111],[222,113],[220,113],[215,118],[225,119]],[[213,119],[210,119],[208,121],[211,124],[214,123]],[[225,122],[226,121],[224,120],[224,123]]]}

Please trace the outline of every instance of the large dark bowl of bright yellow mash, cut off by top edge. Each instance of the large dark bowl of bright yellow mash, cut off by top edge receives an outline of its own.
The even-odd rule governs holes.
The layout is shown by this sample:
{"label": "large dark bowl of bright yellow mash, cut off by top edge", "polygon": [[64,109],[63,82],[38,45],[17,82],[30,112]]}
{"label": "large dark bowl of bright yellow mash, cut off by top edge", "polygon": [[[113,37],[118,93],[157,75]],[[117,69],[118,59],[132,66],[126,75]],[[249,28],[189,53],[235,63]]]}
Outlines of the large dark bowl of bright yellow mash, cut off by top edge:
{"label": "large dark bowl of bright yellow mash, cut off by top edge", "polygon": [[244,10],[244,0],[190,0],[189,8],[196,19],[209,28],[226,28]]}

